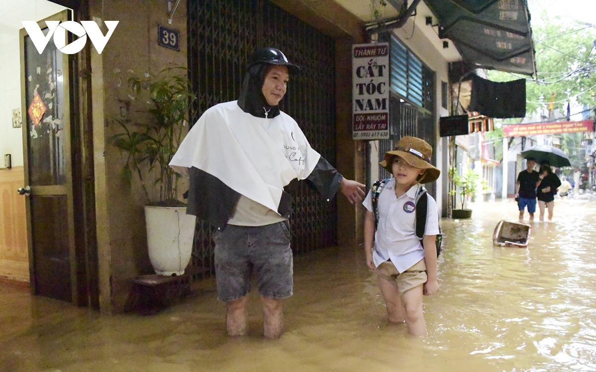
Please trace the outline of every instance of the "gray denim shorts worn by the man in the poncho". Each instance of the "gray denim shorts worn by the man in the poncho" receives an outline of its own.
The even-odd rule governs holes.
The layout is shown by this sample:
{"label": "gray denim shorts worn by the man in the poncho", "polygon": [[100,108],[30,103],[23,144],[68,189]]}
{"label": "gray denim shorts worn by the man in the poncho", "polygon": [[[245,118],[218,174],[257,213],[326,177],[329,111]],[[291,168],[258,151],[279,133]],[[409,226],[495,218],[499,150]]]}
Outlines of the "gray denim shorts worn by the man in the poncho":
{"label": "gray denim shorts worn by the man in the poncho", "polygon": [[246,296],[253,272],[262,296],[283,299],[292,295],[291,236],[286,222],[265,226],[227,225],[222,232],[215,233],[213,240],[219,301]]}

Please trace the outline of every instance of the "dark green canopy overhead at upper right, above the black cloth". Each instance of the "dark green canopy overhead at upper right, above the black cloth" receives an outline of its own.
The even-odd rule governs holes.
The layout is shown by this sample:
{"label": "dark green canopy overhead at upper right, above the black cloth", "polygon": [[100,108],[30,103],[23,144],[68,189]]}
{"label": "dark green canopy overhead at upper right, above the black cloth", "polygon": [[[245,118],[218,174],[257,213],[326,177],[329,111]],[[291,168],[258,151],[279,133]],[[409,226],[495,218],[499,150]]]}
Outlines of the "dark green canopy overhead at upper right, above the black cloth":
{"label": "dark green canopy overhead at upper right, above the black cloth", "polygon": [[451,39],[479,68],[532,76],[536,71],[526,0],[425,0]]}

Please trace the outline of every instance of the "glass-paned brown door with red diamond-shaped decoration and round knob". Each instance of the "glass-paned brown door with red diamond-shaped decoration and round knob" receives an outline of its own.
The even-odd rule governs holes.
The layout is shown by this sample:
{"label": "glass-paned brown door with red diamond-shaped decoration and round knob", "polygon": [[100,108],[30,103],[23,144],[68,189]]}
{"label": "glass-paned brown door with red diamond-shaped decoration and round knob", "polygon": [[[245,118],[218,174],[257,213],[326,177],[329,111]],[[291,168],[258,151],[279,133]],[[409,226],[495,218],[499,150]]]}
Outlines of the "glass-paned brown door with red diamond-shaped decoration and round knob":
{"label": "glass-paned brown door with red diamond-shaped decoration and round knob", "polygon": [[[66,21],[67,11],[46,20]],[[39,27],[48,32],[45,20]],[[32,291],[77,302],[70,151],[69,55],[49,39],[39,54],[20,31],[27,235]]]}

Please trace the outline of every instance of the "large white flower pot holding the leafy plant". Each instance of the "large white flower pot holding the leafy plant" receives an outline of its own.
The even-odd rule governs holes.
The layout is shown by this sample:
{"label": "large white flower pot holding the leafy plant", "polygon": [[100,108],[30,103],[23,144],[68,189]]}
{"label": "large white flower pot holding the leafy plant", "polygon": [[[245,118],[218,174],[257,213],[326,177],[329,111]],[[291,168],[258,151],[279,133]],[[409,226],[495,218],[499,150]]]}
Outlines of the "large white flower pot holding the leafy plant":
{"label": "large white flower pot holding the leafy plant", "polygon": [[149,259],[157,274],[184,274],[193,252],[195,219],[186,208],[145,206]]}

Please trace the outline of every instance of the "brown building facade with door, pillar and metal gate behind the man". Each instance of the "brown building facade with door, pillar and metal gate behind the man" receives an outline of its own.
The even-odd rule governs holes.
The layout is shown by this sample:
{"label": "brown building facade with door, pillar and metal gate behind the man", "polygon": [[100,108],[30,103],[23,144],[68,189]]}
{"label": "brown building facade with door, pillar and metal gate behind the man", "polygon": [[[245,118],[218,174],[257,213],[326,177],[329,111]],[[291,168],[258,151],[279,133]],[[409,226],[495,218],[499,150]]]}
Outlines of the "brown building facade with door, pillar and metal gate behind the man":
{"label": "brown building facade with door, pillar and metal gate behind the man", "polygon": [[[19,12],[6,13],[1,23],[11,42],[0,46],[8,48],[1,53],[6,63],[0,74],[10,81],[0,92],[5,98],[0,99],[0,153],[12,155],[12,167],[0,171],[0,276],[30,280],[35,294],[104,312],[124,310],[131,279],[153,272],[143,206],[159,190],[145,193],[135,177],[128,185],[126,155],[110,139],[122,133],[122,123],[131,129],[147,123],[146,85],[164,68],[188,68],[197,96],[190,124],[212,105],[237,99],[247,58],[260,46],[276,46],[303,67],[282,109],[343,176],[370,186],[383,176],[378,161],[399,137],[423,137],[433,145],[432,161],[442,171],[429,190],[445,209],[448,141],[439,136],[438,123],[452,112],[449,63],[461,55],[451,40],[440,39],[440,20],[425,2],[411,2],[407,13],[387,6],[380,14],[368,0],[32,4],[15,5]],[[23,19],[9,25],[12,14]],[[394,18],[399,27],[389,26]],[[42,20],[92,20],[104,35],[105,21],[119,23],[101,54],[89,38],[74,54],[61,53],[51,41],[44,54],[36,54],[21,20],[39,21],[40,29],[46,25]],[[351,48],[377,41],[392,49],[392,132],[389,140],[357,141],[352,139]],[[80,39],[71,36],[74,42]],[[135,79],[146,83],[134,90]],[[19,109],[21,127],[12,119]],[[294,206],[295,252],[362,241],[361,205],[342,197],[322,201],[299,187]],[[193,265],[209,271],[212,242],[206,224],[197,224],[194,249]]]}

